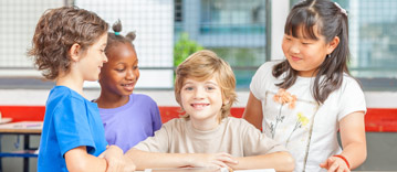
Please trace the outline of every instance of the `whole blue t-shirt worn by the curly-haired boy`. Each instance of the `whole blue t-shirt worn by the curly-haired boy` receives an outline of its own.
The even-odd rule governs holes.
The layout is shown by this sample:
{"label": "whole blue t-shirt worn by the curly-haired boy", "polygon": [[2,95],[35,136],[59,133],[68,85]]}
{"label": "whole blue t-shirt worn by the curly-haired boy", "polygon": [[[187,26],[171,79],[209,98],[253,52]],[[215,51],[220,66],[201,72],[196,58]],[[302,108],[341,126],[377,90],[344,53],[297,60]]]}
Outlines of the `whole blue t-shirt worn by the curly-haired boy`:
{"label": "whole blue t-shirt worn by the curly-haired boy", "polygon": [[81,146],[100,155],[107,146],[104,133],[95,103],[65,86],[55,86],[45,105],[38,171],[67,171],[64,154]]}

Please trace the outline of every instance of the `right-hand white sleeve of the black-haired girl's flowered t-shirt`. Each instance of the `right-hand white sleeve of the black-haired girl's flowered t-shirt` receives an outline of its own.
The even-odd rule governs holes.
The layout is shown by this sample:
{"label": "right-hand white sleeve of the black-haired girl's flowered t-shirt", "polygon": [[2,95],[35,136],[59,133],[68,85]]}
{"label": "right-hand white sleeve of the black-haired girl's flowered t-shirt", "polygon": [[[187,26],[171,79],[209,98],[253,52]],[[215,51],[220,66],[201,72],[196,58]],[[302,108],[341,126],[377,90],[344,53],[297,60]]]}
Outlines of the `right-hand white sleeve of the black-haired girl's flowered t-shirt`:
{"label": "right-hand white sleeve of the black-haired girl's flowered t-shirt", "polygon": [[358,83],[351,77],[344,79],[346,84],[341,87],[338,120],[355,111],[367,111],[364,93]]}

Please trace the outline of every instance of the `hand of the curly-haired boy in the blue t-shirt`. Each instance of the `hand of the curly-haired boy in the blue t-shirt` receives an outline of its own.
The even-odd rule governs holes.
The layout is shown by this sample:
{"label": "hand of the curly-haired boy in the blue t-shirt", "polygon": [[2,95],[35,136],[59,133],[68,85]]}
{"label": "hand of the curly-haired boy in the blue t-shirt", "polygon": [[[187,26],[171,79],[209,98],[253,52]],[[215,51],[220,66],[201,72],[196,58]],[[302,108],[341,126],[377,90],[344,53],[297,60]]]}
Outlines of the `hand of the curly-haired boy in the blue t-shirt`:
{"label": "hand of the curly-haired boy in the blue t-shirt", "polygon": [[106,150],[98,155],[107,162],[106,172],[123,172],[126,161],[124,159],[123,150],[117,146],[107,146]]}

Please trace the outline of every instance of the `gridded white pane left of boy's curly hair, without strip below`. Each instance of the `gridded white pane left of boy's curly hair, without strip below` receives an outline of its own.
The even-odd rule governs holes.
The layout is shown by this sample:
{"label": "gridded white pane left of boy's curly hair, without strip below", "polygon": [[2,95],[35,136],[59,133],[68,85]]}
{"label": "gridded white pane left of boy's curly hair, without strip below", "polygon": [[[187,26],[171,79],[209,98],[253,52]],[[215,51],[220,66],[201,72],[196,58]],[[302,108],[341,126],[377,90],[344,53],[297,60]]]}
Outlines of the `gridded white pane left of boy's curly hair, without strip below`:
{"label": "gridded white pane left of boy's curly hair, without strip below", "polygon": [[35,24],[50,8],[62,7],[62,1],[0,1],[0,69],[33,69],[27,57]]}

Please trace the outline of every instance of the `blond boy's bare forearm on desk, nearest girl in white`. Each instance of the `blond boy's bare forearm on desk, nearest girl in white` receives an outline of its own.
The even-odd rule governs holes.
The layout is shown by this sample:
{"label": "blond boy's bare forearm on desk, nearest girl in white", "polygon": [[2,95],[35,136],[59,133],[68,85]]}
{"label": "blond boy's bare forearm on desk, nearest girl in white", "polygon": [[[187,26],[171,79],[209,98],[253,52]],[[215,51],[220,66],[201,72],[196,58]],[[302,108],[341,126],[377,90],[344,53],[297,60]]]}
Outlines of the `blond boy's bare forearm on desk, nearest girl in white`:
{"label": "blond boy's bare forearm on desk, nearest girl in white", "polygon": [[230,168],[239,169],[274,169],[275,171],[293,171],[294,159],[289,152],[274,152],[262,155],[236,158],[238,164],[228,164]]}

